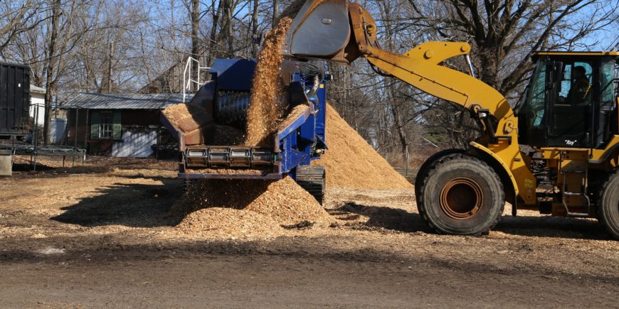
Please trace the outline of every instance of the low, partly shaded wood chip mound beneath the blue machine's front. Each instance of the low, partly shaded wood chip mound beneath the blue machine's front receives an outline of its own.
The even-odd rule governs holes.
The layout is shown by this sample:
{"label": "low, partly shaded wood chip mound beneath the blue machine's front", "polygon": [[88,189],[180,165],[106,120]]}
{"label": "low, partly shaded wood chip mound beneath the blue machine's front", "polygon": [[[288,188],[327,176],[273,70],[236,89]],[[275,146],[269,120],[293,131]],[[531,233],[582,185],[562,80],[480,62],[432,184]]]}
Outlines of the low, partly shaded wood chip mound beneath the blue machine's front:
{"label": "low, partly shaded wood chip mound beneath the blue machine's front", "polygon": [[173,205],[171,215],[180,219],[179,232],[229,237],[238,237],[250,227],[255,227],[253,234],[276,236],[282,227],[306,222],[327,227],[334,221],[289,177],[277,181],[200,180]]}

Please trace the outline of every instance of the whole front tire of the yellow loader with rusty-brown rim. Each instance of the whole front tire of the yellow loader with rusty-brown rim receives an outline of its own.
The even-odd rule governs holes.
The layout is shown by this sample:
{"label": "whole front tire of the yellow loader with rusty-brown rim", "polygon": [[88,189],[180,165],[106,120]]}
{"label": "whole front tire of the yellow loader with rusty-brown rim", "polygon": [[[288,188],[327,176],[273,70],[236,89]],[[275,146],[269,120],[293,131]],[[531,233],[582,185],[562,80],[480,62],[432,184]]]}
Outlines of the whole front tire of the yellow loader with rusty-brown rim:
{"label": "whole front tire of the yellow loader with rusty-brown rim", "polygon": [[466,154],[438,159],[418,185],[419,213],[440,234],[488,234],[505,207],[499,175]]}

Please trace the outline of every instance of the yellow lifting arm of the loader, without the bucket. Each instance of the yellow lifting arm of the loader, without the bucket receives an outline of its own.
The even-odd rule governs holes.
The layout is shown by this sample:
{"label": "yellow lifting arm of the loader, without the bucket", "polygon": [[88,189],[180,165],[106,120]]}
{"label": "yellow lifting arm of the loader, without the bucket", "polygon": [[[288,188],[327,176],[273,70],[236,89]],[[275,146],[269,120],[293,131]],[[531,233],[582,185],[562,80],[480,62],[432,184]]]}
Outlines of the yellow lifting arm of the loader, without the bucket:
{"label": "yellow lifting arm of the loader, without the bucket", "polygon": [[[535,205],[536,178],[518,146],[518,119],[502,94],[481,80],[439,63],[465,55],[467,43],[426,42],[403,55],[368,46],[369,63],[408,85],[469,109],[482,124],[482,138],[472,147],[493,158],[509,176],[515,196]],[[480,115],[483,115],[480,116]],[[487,121],[483,121],[483,118]],[[513,202],[513,201],[510,201]]]}

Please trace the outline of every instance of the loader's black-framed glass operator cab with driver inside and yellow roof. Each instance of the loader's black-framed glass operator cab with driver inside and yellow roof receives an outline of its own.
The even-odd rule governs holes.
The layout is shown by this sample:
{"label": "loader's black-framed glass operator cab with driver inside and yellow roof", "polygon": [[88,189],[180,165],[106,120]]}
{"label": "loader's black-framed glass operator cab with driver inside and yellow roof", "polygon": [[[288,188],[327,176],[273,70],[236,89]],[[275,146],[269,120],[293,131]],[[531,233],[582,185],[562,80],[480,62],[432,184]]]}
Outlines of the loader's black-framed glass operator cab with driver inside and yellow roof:
{"label": "loader's black-framed glass operator cab with driver inside and yellow roof", "polygon": [[533,60],[517,109],[522,144],[603,148],[618,134],[618,52],[536,53]]}

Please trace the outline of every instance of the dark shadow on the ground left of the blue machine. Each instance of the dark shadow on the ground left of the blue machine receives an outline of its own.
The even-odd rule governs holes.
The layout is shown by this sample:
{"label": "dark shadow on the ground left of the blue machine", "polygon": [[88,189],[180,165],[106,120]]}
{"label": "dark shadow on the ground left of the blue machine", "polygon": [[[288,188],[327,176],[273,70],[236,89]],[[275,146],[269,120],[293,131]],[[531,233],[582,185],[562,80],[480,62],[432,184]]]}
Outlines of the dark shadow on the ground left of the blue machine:
{"label": "dark shadow on the ground left of the blue machine", "polygon": [[83,227],[119,224],[127,227],[161,227],[174,224],[169,217],[172,204],[183,193],[182,182],[157,178],[158,185],[115,183],[84,197],[75,205],[61,208],[51,219]]}

